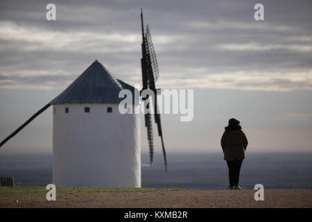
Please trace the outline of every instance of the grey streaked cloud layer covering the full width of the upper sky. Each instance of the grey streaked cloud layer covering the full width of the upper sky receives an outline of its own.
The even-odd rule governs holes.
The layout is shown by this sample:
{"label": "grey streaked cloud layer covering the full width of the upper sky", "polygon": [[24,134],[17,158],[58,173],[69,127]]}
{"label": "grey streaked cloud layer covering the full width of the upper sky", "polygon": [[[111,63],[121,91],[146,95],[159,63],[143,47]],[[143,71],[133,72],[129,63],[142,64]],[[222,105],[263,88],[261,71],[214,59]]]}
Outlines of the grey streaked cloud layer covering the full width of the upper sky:
{"label": "grey streaked cloud layer covering the full width of the upper sky", "polygon": [[139,8],[144,6],[159,87],[312,88],[309,1],[266,3],[264,22],[254,21],[252,1],[55,4],[57,21],[47,22],[44,1],[27,6],[1,1],[0,87],[64,88],[95,59],[114,76],[140,83]]}

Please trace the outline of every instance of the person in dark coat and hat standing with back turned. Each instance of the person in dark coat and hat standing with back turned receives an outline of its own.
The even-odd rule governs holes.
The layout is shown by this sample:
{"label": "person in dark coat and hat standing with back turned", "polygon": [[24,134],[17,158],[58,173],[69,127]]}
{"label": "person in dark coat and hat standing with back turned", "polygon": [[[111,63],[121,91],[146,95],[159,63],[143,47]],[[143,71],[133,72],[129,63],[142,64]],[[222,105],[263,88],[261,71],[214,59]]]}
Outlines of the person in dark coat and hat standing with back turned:
{"label": "person in dark coat and hat standing with back turned", "polygon": [[239,171],[245,159],[245,151],[248,140],[241,130],[237,119],[229,119],[229,124],[225,127],[225,132],[221,138],[221,147],[224,153],[224,160],[229,168],[229,189],[241,189],[239,187]]}

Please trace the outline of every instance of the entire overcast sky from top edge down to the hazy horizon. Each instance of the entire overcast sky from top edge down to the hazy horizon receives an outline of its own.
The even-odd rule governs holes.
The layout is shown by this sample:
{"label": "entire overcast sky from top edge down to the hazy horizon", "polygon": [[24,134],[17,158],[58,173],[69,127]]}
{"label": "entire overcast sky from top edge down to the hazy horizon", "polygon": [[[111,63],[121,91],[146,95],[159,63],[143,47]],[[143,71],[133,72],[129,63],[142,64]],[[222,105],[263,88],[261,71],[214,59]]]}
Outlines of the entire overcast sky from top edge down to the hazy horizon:
{"label": "entire overcast sky from top edge down to the hazy horizon", "polygon": [[[56,21],[46,20],[51,2]],[[265,21],[254,20],[255,3]],[[242,121],[255,151],[312,150],[312,1],[1,0],[0,139],[96,59],[141,83],[141,7],[157,87],[195,89],[192,122],[163,117],[169,151],[219,149],[230,117]],[[47,111],[5,146],[51,151],[51,119]]]}

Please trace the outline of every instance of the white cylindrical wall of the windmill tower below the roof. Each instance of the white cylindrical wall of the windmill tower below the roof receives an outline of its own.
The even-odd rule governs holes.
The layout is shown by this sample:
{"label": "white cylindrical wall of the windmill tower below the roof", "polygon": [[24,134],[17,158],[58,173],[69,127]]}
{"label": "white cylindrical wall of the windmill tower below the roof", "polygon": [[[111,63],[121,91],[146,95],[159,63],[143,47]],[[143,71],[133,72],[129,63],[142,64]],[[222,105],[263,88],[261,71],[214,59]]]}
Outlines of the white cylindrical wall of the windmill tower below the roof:
{"label": "white cylindrical wall of the windmill tower below the roof", "polygon": [[141,187],[140,155],[139,114],[120,114],[117,104],[53,105],[56,186]]}

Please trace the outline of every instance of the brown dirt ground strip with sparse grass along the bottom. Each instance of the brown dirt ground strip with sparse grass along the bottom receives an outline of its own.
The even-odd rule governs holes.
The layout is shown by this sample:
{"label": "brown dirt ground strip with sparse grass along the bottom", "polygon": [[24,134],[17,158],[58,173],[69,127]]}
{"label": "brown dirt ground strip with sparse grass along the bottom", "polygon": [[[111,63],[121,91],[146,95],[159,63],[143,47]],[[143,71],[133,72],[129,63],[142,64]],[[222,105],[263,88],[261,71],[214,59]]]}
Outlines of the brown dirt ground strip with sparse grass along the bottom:
{"label": "brown dirt ground strip with sparse grass along the bottom", "polygon": [[0,187],[0,207],[312,207],[312,189],[57,189],[46,200],[45,187]]}

